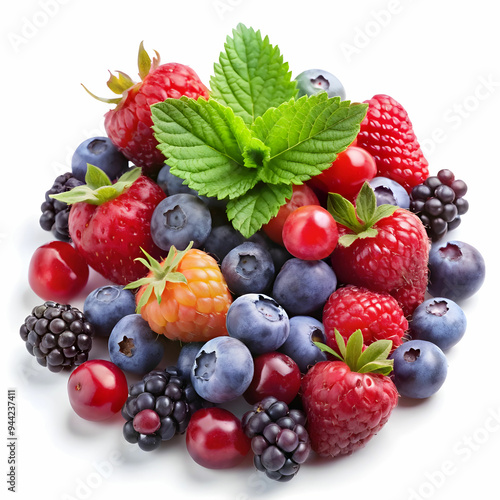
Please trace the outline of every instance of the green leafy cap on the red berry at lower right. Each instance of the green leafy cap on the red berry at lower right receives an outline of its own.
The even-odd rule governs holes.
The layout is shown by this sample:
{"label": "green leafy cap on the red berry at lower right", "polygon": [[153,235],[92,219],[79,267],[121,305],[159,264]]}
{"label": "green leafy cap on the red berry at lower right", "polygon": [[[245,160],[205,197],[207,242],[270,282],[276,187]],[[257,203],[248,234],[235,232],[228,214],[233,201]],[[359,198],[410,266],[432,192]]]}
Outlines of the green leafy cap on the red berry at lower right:
{"label": "green leafy cap on the red berry at lower right", "polygon": [[339,361],[343,361],[353,372],[382,375],[389,375],[392,372],[394,360],[388,359],[392,349],[392,340],[377,340],[363,350],[363,334],[359,329],[349,336],[347,344],[339,331],[335,329],[335,340],[340,354],[321,342],[314,342],[314,344]]}

